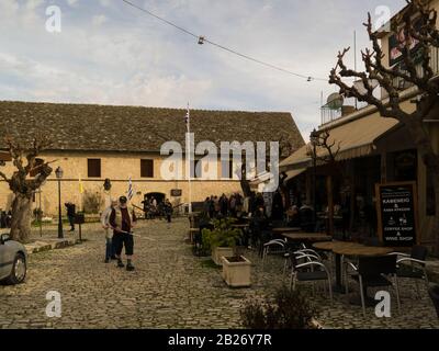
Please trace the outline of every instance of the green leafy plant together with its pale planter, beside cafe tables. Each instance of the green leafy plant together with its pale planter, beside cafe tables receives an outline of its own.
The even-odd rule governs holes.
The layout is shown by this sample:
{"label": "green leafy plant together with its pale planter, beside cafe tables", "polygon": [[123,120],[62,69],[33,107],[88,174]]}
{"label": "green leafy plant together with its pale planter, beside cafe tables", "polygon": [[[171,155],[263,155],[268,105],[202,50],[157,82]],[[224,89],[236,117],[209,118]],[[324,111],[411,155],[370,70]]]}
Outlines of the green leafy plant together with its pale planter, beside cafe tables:
{"label": "green leafy plant together with its pale planter, beside cafe tables", "polygon": [[233,228],[235,219],[223,218],[213,220],[213,230],[202,230],[203,249],[212,252],[212,259],[222,265],[222,257],[234,257],[234,248],[240,242],[243,231]]}

